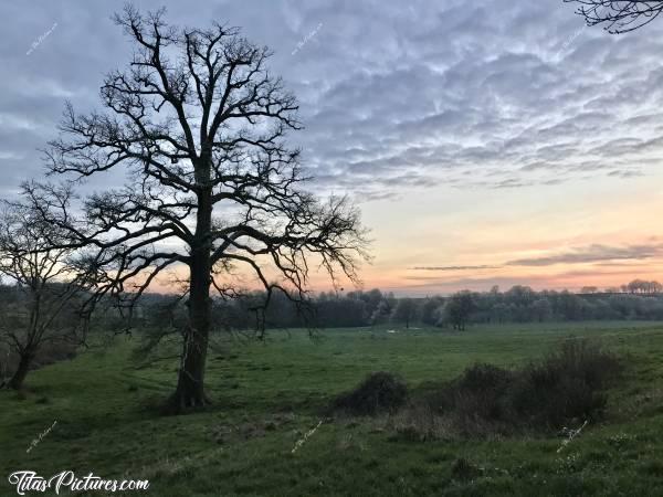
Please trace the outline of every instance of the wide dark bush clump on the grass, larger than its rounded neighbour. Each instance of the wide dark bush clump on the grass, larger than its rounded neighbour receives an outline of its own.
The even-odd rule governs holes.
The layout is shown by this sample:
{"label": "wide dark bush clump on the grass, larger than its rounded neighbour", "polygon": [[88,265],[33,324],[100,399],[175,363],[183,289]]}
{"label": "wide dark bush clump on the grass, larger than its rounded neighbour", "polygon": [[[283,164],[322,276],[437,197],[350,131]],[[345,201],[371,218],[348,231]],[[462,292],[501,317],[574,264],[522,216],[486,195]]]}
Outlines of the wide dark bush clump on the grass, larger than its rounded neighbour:
{"label": "wide dark bush clump on the grass, larger than its rounded neighbour", "polygon": [[422,388],[393,420],[397,432],[427,440],[440,433],[485,436],[557,430],[596,421],[618,359],[586,340],[569,340],[539,362],[506,370],[474,364],[451,382]]}

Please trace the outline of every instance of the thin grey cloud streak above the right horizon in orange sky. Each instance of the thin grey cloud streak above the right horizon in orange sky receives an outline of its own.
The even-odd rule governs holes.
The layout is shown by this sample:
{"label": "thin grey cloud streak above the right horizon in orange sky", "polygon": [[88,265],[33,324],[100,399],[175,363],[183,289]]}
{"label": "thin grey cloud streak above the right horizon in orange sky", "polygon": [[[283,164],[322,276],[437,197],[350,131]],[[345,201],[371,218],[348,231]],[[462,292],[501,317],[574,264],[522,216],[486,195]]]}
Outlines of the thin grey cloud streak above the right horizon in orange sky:
{"label": "thin grey cloud streak above the right horizon in orange sky", "polygon": [[649,260],[663,255],[663,244],[609,246],[594,244],[572,251],[509,261],[507,266],[551,266],[555,264],[600,263],[608,261]]}

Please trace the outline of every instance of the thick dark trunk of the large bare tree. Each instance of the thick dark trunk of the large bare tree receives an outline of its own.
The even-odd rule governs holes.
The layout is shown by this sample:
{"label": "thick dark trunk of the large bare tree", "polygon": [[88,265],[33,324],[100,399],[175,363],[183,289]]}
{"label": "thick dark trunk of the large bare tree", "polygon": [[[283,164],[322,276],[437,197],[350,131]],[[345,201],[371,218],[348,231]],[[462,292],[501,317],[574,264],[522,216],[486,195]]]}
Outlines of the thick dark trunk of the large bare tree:
{"label": "thick dark trunk of the large bare tree", "polygon": [[204,393],[204,368],[211,325],[211,191],[199,194],[196,245],[190,255],[189,326],[185,335],[177,389],[167,411],[182,413],[210,401]]}

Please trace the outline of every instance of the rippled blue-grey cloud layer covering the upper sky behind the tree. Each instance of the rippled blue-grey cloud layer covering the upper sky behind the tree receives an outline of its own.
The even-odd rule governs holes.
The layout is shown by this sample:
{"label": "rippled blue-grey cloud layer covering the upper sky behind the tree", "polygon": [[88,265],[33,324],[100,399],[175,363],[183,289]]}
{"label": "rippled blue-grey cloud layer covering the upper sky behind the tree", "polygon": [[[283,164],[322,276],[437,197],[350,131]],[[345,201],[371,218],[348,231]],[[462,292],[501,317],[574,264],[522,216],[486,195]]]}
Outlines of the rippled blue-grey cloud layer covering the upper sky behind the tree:
{"label": "rippled blue-grey cloud layer covering the upper sky behind the tree", "polygon": [[[317,189],[377,200],[441,183],[523,188],[630,178],[663,158],[663,112],[651,110],[663,108],[663,23],[579,32],[560,0],[140,2],[160,6],[177,23],[240,25],[273,49],[273,71],[301,99],[306,129],[294,139]],[[6,184],[39,172],[65,98],[96,105],[104,73],[129,60],[109,20],[117,8],[0,6],[12,20],[0,44]]]}

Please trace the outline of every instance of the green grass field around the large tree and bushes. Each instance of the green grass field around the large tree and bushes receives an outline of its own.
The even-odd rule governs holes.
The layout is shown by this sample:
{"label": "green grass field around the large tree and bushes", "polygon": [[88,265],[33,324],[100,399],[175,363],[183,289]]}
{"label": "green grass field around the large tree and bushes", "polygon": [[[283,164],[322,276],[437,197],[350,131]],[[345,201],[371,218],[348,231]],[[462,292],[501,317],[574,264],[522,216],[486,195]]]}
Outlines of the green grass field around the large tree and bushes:
{"label": "green grass field around the large tree and bushes", "polygon": [[[561,436],[412,442],[368,419],[325,422],[292,453],[329,400],[368,372],[393,371],[417,388],[477,361],[523,364],[570,336],[601,338],[630,366],[610,391],[607,420],[561,453]],[[178,497],[663,491],[662,324],[504,325],[462,334],[366,328],[326,330],[315,340],[301,330],[273,331],[266,343],[227,341],[212,351],[214,404],[186,416],[160,416],[156,408],[173,388],[177,361],[139,369],[129,359],[136,342],[117,338],[34,371],[24,395],[0,392],[0,495],[15,495],[7,476],[20,469],[148,478],[141,495]],[[453,472],[461,458],[475,469],[470,476]]]}

